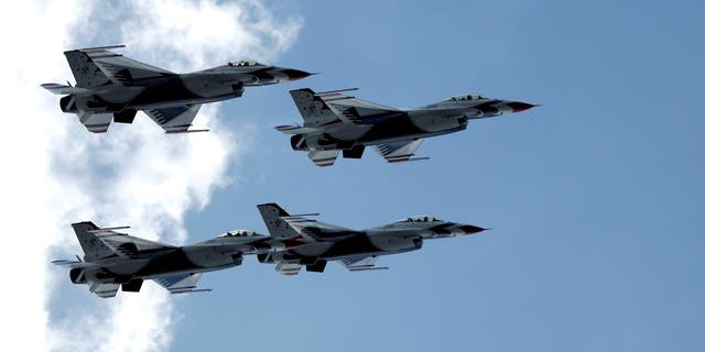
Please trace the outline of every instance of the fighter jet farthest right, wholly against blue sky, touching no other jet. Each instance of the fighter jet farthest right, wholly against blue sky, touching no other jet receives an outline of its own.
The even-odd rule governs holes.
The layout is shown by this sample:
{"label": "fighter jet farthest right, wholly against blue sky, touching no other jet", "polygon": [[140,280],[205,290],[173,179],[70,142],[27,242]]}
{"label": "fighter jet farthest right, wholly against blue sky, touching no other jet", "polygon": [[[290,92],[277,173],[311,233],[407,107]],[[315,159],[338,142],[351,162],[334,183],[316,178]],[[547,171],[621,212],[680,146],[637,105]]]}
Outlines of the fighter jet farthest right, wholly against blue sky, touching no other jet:
{"label": "fighter jet farthest right, wholly against blue sky, touching no other jet", "polygon": [[293,134],[294,151],[306,151],[318,166],[330,166],[343,157],[360,158],[372,146],[389,163],[426,160],[413,157],[424,138],[465,130],[468,121],[520,112],[534,105],[463,95],[416,109],[395,109],[336,91],[292,90],[291,96],[303,117],[302,125],[280,125],[276,130]]}

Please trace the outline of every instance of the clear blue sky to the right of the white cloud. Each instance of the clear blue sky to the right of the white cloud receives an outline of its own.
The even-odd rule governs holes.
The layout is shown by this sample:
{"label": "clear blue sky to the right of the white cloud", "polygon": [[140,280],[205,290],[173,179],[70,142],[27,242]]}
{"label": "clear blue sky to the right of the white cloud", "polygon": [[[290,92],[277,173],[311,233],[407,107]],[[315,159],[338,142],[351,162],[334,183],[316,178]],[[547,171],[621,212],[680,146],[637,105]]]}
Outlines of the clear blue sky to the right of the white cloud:
{"label": "clear blue sky to the right of the white cloud", "polygon": [[[276,11],[279,3],[271,2]],[[192,239],[265,230],[254,207],[351,228],[406,215],[494,228],[380,261],[278,275],[247,258],[177,298],[172,346],[701,351],[705,128],[702,4],[681,1],[286,2],[305,24],[281,64],[322,75],[227,102],[250,129],[234,185],[187,216]],[[289,89],[359,87],[414,107],[464,92],[543,103],[427,140],[427,162],[373,153],[314,167],[271,127]],[[240,118],[243,117],[243,118]],[[202,235],[203,234],[203,235]]]}

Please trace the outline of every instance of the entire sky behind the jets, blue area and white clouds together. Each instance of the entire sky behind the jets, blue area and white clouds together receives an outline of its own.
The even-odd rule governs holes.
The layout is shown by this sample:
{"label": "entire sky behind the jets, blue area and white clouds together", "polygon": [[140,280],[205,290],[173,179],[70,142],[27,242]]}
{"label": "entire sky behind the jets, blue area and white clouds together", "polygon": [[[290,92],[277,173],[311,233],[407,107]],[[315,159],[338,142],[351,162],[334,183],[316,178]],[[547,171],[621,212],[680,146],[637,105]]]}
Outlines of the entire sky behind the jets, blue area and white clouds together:
{"label": "entire sky behind the jets, blue area and white clouds together", "polygon": [[[0,139],[3,163],[14,165],[0,205],[14,220],[8,233],[36,227],[6,244],[30,249],[4,257],[28,263],[13,278],[25,289],[0,299],[23,332],[7,337],[9,349],[40,349],[26,344],[36,342],[33,327],[59,350],[705,349],[703,4],[208,3],[87,10],[46,0],[0,11],[0,25],[26,36],[7,37],[25,54],[3,65],[13,67],[8,87],[18,87],[6,95],[20,102],[8,116],[25,118],[8,120]],[[254,14],[227,16],[241,9]],[[85,20],[67,22],[76,14]],[[126,56],[174,70],[249,48],[246,58],[322,74],[214,105],[196,120],[214,128],[207,135],[165,136],[140,116],[95,136],[37,85],[70,77],[62,50],[116,38]],[[319,168],[273,130],[301,121],[288,91],[302,87],[358,87],[357,97],[393,107],[468,92],[543,106],[426,140],[417,155],[430,161],[389,165],[367,151]],[[37,132],[15,132],[24,130]],[[178,239],[183,222],[195,242],[265,232],[256,205],[270,201],[357,229],[431,213],[492,230],[381,258],[390,271],[332,263],[324,274],[286,277],[247,257],[204,275],[200,286],[214,292],[177,297],[150,286],[100,300],[42,266],[47,253],[79,251],[74,221],[129,224],[133,235],[164,241]]]}

